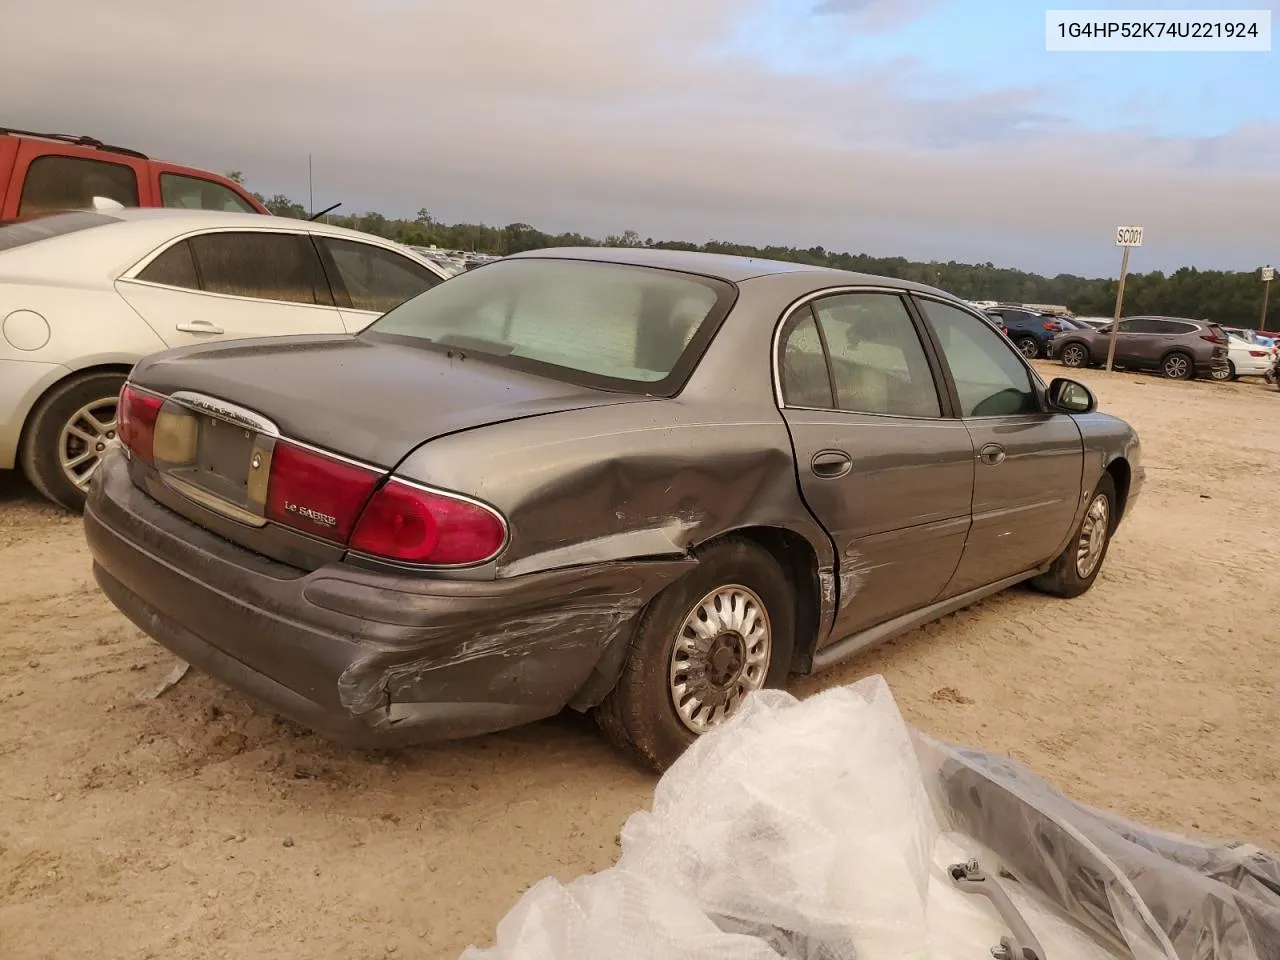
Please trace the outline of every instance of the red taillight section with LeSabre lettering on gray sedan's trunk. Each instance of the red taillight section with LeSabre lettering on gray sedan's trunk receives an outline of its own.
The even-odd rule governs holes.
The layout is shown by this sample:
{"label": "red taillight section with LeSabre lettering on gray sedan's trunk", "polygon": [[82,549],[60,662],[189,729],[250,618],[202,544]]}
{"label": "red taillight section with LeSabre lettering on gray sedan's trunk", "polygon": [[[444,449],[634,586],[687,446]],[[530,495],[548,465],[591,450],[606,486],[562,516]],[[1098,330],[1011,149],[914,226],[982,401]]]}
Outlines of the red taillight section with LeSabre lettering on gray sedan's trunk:
{"label": "red taillight section with LeSabre lettering on gray sedan's trunk", "polygon": [[266,518],[346,543],[381,472],[279,440],[271,453]]}

